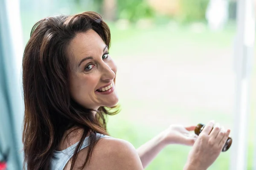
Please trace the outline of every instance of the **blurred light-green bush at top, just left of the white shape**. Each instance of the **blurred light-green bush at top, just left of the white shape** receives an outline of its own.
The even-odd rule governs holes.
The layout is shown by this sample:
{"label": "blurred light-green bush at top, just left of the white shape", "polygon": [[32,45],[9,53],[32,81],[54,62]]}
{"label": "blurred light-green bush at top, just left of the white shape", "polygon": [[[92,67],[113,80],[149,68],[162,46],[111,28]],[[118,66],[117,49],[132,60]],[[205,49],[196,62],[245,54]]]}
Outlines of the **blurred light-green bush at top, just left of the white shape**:
{"label": "blurred light-green bush at top, just left of the white shape", "polygon": [[180,22],[205,20],[209,0],[180,0],[180,13],[176,18]]}

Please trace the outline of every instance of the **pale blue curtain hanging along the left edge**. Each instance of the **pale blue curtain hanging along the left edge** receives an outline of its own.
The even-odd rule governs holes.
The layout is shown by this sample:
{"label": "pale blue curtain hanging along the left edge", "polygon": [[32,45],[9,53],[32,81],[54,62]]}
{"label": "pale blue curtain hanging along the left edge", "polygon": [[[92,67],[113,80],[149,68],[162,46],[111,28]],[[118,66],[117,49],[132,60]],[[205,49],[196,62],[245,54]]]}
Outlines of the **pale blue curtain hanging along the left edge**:
{"label": "pale blue curtain hanging along the left edge", "polygon": [[[22,40],[15,35],[17,31],[21,32],[18,5],[9,8],[10,3],[15,3],[15,0],[0,0],[0,151],[8,153],[9,150],[8,170],[21,170],[24,108],[20,83],[21,63],[17,61],[21,61],[22,57],[18,50],[22,49]],[[1,153],[0,160],[3,160]]]}

